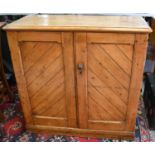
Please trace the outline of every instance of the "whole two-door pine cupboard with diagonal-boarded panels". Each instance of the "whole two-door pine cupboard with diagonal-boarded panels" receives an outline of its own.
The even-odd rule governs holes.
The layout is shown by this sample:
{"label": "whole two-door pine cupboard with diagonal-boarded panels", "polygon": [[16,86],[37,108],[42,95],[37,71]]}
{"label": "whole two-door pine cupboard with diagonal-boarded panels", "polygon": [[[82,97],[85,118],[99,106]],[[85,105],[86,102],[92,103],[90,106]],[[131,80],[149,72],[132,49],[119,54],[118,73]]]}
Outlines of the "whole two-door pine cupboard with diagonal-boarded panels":
{"label": "whole two-door pine cupboard with diagonal-boarded panels", "polygon": [[143,18],[29,15],[4,29],[28,130],[133,138],[151,32]]}

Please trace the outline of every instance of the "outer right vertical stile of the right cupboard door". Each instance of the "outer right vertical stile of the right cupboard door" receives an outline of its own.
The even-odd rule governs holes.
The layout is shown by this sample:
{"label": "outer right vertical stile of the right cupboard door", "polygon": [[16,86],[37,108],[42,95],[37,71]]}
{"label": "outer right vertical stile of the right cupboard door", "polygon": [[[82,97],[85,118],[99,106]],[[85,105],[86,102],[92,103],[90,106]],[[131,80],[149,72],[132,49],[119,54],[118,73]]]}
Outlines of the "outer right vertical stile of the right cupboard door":
{"label": "outer right vertical stile of the right cupboard door", "polygon": [[147,49],[147,34],[136,34],[127,110],[127,131],[134,131]]}

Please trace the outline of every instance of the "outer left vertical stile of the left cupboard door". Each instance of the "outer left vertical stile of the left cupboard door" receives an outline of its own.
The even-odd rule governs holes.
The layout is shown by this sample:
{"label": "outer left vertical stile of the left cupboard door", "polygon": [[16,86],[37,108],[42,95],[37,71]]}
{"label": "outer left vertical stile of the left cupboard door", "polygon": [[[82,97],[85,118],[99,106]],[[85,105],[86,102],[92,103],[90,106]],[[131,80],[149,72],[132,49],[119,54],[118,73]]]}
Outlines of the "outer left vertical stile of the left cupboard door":
{"label": "outer left vertical stile of the left cupboard door", "polygon": [[18,85],[18,92],[24,111],[24,117],[26,119],[26,123],[33,123],[31,105],[22,66],[21,51],[17,42],[17,32],[7,32],[7,37],[9,41],[9,47],[11,49],[11,57]]}

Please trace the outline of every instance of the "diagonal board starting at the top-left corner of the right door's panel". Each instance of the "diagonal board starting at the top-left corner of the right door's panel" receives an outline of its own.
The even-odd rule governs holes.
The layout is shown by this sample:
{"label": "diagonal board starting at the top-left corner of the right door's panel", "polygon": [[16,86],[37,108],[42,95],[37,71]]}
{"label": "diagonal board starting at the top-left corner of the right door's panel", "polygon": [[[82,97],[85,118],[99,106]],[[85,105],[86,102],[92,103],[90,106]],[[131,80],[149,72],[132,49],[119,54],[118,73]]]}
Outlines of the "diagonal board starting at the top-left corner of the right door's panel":
{"label": "diagonal board starting at the top-left corner of the right door's panel", "polygon": [[[113,46],[113,45],[111,45]],[[96,59],[97,64],[102,66],[102,70],[106,70],[113,78],[115,78],[125,89],[129,88],[129,81],[130,81],[130,75],[126,74],[125,71],[122,69],[122,66],[116,62],[115,59],[112,59],[109,52],[112,53],[112,51],[105,51],[101,47],[101,45],[89,45],[89,52],[93,55],[94,59]],[[114,55],[116,55],[116,52],[113,52]],[[115,57],[115,56],[113,56]],[[121,59],[119,59],[122,61]],[[91,63],[90,63],[91,64]],[[97,72],[97,68],[96,72]],[[131,70],[131,67],[129,68]],[[131,72],[131,71],[130,71]],[[106,77],[107,79],[110,77]],[[117,83],[118,83],[117,82]]]}

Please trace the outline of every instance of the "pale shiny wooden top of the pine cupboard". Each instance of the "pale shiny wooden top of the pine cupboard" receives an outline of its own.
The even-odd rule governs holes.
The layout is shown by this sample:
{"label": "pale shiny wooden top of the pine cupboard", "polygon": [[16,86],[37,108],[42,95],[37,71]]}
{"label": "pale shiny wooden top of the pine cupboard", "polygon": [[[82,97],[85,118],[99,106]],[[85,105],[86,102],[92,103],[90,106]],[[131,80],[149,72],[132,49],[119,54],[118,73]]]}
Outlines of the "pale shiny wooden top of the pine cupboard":
{"label": "pale shiny wooden top of the pine cupboard", "polygon": [[151,32],[139,16],[97,15],[29,15],[6,25],[4,29]]}

